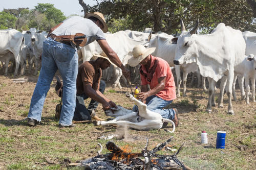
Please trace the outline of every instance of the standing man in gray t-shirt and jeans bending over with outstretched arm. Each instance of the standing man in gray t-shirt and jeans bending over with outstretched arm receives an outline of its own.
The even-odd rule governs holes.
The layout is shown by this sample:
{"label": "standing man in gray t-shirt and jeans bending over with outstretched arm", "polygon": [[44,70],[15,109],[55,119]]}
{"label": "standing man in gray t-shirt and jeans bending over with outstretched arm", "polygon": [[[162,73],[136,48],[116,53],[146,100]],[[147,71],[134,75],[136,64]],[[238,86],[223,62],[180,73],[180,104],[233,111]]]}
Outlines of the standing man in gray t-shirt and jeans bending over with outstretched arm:
{"label": "standing man in gray t-shirt and jeans bending over with outstretched arm", "polygon": [[[130,71],[124,67],[117,54],[106,42],[103,32],[107,31],[108,27],[105,19],[99,12],[87,13],[84,18],[71,16],[49,31],[48,38],[45,39],[42,46],[40,75],[30,103],[27,123],[29,126],[35,126],[41,121],[42,108],[57,69],[59,69],[63,80],[63,105],[58,127],[75,126],[72,124],[72,119],[76,101],[77,49],[79,46],[59,40],[56,36],[70,36],[81,33],[86,35],[87,43],[85,45],[96,40],[106,56],[122,69],[122,73],[127,79],[130,79]],[[106,110],[110,108],[110,104],[104,107]]]}

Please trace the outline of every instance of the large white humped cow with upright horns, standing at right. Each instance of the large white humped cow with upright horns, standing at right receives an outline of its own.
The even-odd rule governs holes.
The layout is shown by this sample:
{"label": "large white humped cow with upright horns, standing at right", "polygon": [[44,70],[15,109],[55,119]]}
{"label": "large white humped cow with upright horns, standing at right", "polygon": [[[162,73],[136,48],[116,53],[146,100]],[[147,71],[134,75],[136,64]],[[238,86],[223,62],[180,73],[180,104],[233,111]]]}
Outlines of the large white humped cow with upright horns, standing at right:
{"label": "large white humped cow with upright horns, standing at right", "polygon": [[[226,75],[222,81],[227,80],[228,113],[233,114],[231,93],[234,66],[242,62],[245,54],[245,41],[242,32],[220,23],[211,34],[197,35],[194,33],[198,26],[199,20],[194,29],[188,32],[181,20],[181,35],[179,38],[173,39],[177,43],[174,64],[182,65],[195,62],[199,67],[200,74],[208,78],[209,93],[206,111],[209,113],[211,112],[211,102],[215,101],[214,81],[217,82]],[[223,98],[223,95],[221,97]]]}

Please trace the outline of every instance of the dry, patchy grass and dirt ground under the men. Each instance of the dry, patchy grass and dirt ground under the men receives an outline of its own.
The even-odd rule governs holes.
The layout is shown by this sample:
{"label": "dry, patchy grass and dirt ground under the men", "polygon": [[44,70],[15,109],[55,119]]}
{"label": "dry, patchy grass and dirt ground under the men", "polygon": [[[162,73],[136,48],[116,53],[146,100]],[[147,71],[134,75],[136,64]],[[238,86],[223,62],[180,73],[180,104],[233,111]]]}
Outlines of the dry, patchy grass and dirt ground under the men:
{"label": "dry, patchy grass and dirt ground under the men", "polygon": [[[256,104],[250,101],[250,104],[246,105],[245,101],[241,100],[238,89],[236,90],[238,102],[232,101],[235,115],[228,115],[226,95],[224,108],[218,108],[217,105],[212,107],[212,113],[208,114],[205,112],[208,93],[201,88],[187,88],[187,97],[181,96],[167,107],[179,110],[180,124],[174,134],[169,134],[163,129],[125,131],[116,127],[97,127],[92,124],[79,124],[73,130],[59,130],[56,127],[58,120],[54,117],[55,106],[59,103],[59,98],[55,93],[56,79],[53,80],[47,94],[42,111],[42,125],[31,128],[26,126],[24,119],[28,114],[38,77],[29,74],[23,77],[12,77],[11,74],[3,76],[3,69],[0,69],[0,75],[0,157],[2,157],[0,169],[11,169],[13,165],[22,167],[22,169],[28,166],[28,169],[52,167],[46,163],[46,155],[52,159],[58,158],[59,161],[69,157],[72,162],[93,157],[97,155],[97,142],[103,145],[109,141],[97,139],[97,137],[111,134],[118,134],[120,139],[112,140],[119,145],[130,144],[134,152],[139,152],[144,147],[145,137],[149,139],[150,147],[155,147],[156,143],[164,142],[174,135],[174,140],[169,144],[178,149],[183,142],[186,142],[186,147],[178,158],[194,169],[253,169],[255,167]],[[12,79],[17,78],[25,78],[28,81],[15,83]],[[189,84],[190,81],[187,82]],[[137,83],[132,84],[133,90]],[[131,89],[124,87],[124,84],[121,85],[122,89],[113,89],[111,83],[107,83],[105,95],[116,104],[132,109],[133,103],[125,98],[125,92],[131,92]],[[218,94],[219,89],[216,98]],[[89,102],[86,100],[86,104]],[[99,117],[107,118],[101,105],[96,112]],[[167,128],[171,129],[169,126]],[[32,132],[31,129],[34,131]],[[202,130],[208,133],[208,144],[205,145],[200,143]],[[227,132],[224,150],[215,149],[217,131]],[[38,138],[40,142],[37,141]],[[62,144],[56,144],[52,148],[49,144],[53,142],[52,140]],[[50,152],[51,149],[56,152]],[[66,150],[62,151],[62,149]],[[103,152],[107,151],[103,150]],[[17,164],[22,164],[22,166],[17,166]],[[56,169],[58,168],[63,167],[57,166]]]}

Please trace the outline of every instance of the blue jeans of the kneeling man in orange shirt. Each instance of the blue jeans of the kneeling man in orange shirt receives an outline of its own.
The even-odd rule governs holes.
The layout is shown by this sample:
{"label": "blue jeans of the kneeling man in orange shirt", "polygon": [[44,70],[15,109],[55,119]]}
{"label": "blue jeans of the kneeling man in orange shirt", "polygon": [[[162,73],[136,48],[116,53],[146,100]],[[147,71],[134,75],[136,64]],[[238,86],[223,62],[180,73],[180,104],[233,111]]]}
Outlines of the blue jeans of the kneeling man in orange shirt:
{"label": "blue jeans of the kneeling man in orange shirt", "polygon": [[[163,107],[167,106],[168,104],[172,103],[173,101],[165,101],[159,98],[156,95],[149,96],[146,98],[146,105],[147,109],[153,112],[161,114],[163,118],[174,119],[175,110],[174,109],[163,109]],[[139,111],[138,106],[133,106],[133,111]]]}

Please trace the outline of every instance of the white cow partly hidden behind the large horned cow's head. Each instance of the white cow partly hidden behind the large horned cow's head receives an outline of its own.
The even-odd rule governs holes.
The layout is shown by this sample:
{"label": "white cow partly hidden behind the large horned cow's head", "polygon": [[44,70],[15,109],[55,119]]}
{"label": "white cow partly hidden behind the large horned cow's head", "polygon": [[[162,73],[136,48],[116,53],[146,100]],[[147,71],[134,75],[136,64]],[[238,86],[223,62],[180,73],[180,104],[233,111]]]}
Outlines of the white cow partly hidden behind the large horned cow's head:
{"label": "white cow partly hidden behind the large horned cow's head", "polygon": [[[186,96],[186,81],[187,81],[187,74],[189,72],[195,72],[197,70],[196,63],[189,63],[189,64],[182,64],[182,65],[174,65],[174,58],[175,58],[175,49],[177,44],[172,43],[172,39],[174,36],[168,35],[165,33],[161,33],[156,37],[150,40],[149,47],[156,47],[153,56],[160,57],[168,62],[170,67],[175,66],[176,77],[177,77],[177,97],[180,97],[180,84],[181,84],[181,71],[183,70],[183,96]],[[200,75],[198,74],[198,80],[200,80]],[[200,82],[198,82],[200,84]]]}

